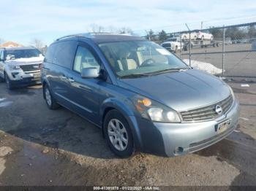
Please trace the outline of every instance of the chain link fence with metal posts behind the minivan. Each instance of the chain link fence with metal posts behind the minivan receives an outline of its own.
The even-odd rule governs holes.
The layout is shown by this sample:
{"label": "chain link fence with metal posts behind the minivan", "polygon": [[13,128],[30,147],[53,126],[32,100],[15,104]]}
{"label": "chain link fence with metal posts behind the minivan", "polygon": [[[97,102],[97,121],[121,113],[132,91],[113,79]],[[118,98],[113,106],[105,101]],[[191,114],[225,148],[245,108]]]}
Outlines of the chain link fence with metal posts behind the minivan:
{"label": "chain link fence with metal posts behind the minivan", "polygon": [[256,78],[256,23],[168,36],[162,46],[195,69],[222,77]]}

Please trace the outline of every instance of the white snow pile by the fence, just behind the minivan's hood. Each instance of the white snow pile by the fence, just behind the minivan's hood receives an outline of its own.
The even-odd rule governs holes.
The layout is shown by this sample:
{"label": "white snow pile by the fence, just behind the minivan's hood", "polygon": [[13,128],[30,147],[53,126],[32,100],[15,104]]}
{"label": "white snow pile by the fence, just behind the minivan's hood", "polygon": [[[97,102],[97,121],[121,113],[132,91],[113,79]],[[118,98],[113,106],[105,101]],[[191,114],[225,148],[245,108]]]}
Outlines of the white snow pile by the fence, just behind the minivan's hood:
{"label": "white snow pile by the fence, just behind the minivan's hood", "polygon": [[[189,59],[183,60],[187,65],[189,65]],[[206,71],[210,74],[222,74],[222,69],[217,68],[216,66],[212,65],[211,63],[205,63],[200,61],[191,61],[191,67],[194,69]]]}

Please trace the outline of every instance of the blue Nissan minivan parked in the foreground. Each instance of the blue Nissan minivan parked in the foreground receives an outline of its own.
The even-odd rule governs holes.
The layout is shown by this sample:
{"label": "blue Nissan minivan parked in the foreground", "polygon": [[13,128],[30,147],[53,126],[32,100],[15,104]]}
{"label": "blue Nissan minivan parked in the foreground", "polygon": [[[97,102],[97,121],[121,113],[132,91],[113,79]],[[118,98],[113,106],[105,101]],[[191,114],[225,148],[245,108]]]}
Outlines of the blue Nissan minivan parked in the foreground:
{"label": "blue Nissan minivan parked in the foreground", "polygon": [[238,124],[238,101],[218,77],[191,69],[137,36],[78,34],[48,47],[43,96],[102,129],[120,157],[168,157],[206,148]]}

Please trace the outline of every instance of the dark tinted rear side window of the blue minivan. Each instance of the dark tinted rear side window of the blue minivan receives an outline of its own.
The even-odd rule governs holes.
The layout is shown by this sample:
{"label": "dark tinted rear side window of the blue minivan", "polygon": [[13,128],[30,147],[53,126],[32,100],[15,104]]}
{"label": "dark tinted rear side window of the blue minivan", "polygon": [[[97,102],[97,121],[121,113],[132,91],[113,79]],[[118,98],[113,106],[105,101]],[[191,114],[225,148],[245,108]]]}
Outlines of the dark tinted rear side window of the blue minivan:
{"label": "dark tinted rear side window of the blue minivan", "polygon": [[72,66],[73,58],[75,57],[75,51],[77,49],[78,42],[66,41],[59,42],[54,47],[53,63],[70,69]]}

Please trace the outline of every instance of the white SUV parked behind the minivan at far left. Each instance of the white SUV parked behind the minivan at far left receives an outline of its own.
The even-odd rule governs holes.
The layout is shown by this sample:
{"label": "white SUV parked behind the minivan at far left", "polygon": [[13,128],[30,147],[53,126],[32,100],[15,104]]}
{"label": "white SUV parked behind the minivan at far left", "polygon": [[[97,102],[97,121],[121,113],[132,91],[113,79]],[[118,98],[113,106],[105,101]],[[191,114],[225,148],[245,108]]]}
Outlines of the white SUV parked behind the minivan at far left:
{"label": "white SUV parked behind the minivan at far left", "polygon": [[44,57],[34,47],[0,48],[0,80],[7,88],[41,83],[40,65]]}

